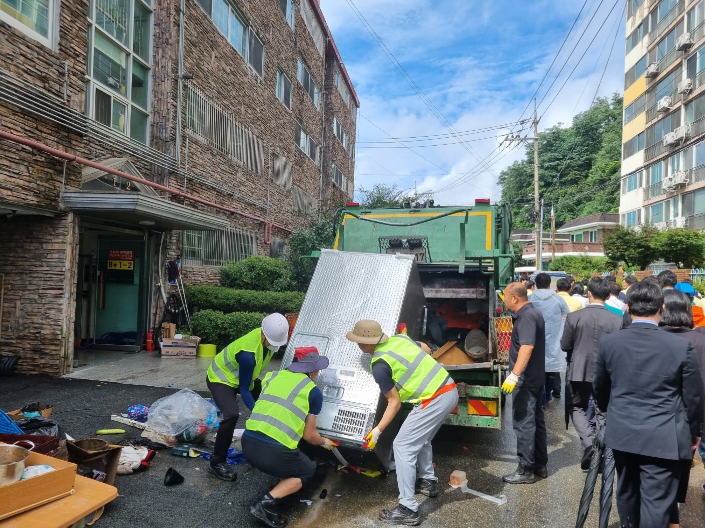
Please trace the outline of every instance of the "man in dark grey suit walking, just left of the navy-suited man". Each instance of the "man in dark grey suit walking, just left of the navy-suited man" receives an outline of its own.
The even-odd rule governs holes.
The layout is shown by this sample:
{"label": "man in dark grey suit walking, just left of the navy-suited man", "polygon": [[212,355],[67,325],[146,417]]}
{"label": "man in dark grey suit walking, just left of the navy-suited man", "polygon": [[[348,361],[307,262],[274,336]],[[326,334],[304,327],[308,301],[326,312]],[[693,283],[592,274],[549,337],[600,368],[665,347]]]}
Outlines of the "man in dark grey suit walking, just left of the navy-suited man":
{"label": "man in dark grey suit walking, just left of the navy-suited man", "polygon": [[[592,442],[595,432],[590,427],[587,410],[592,395],[597,348],[604,334],[617,332],[622,327],[622,318],[605,308],[605,301],[610,296],[610,287],[611,284],[602,277],[591,279],[587,285],[589,305],[565,317],[563,337],[560,338],[560,348],[565,351],[568,360],[565,374],[565,408],[580,436],[583,449],[580,467],[584,470],[590,467],[594,452]],[[600,424],[604,422],[604,413],[599,409],[596,410],[596,420]],[[565,425],[568,427],[567,421]]]}

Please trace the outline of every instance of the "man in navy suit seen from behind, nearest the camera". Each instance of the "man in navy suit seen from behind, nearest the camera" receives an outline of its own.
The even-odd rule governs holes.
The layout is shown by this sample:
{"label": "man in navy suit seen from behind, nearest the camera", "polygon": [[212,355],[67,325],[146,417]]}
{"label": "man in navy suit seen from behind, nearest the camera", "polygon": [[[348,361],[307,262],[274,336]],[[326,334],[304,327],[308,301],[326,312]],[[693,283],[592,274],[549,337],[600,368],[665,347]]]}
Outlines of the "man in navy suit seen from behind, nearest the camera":
{"label": "man in navy suit seen from behind, nearest the camera", "polygon": [[601,337],[593,391],[607,412],[605,444],[618,474],[623,527],[665,528],[678,491],[680,460],[700,443],[703,381],[693,346],[658,327],[663,291],[630,287],[632,324]]}

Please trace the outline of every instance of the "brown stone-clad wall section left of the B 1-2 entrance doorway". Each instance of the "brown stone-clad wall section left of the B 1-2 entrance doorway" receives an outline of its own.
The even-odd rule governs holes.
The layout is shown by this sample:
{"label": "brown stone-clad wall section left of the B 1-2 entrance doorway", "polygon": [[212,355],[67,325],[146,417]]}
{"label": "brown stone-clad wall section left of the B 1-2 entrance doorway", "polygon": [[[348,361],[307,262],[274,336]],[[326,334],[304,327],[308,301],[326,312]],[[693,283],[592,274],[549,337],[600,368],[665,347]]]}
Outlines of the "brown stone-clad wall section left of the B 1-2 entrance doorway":
{"label": "brown stone-clad wall section left of the B 1-2 entrance doorway", "polygon": [[18,372],[66,372],[73,359],[77,218],[4,218],[0,247],[2,352],[20,356]]}

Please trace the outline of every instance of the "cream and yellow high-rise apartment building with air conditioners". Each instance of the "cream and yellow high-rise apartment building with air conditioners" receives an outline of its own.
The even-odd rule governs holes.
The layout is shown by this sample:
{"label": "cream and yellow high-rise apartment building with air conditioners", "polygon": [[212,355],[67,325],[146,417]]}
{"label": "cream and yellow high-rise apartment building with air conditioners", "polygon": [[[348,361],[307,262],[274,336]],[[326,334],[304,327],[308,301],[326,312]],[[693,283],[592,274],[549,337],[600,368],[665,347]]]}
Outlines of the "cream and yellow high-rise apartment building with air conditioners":
{"label": "cream and yellow high-rise apartment building with air conditioners", "polygon": [[620,222],[705,229],[705,0],[627,0]]}

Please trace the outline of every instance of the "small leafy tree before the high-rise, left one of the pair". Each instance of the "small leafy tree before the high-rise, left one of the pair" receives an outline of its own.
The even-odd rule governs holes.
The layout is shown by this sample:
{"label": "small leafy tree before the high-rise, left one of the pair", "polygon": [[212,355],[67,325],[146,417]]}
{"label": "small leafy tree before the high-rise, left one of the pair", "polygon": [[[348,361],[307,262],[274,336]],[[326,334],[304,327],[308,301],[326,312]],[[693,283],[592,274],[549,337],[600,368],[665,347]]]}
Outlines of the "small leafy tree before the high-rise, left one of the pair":
{"label": "small leafy tree before the high-rise, left one of the pair", "polygon": [[658,259],[655,239],[659,231],[649,223],[642,224],[639,230],[633,227],[615,225],[613,230],[605,232],[602,247],[607,258],[613,264],[624,261],[639,270]]}

